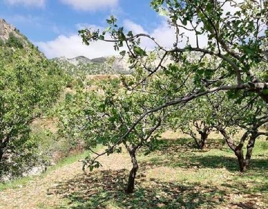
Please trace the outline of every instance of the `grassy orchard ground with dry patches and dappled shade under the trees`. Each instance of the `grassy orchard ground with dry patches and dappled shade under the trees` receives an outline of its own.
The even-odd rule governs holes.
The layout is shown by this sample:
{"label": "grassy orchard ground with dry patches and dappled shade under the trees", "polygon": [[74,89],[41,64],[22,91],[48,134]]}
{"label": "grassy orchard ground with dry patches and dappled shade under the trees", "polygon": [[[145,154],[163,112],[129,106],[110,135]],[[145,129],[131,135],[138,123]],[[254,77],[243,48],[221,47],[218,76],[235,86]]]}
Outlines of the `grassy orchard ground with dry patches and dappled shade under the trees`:
{"label": "grassy orchard ground with dry patches and dappled shade under the trees", "polygon": [[[74,163],[65,166],[72,175],[49,179],[65,172],[54,170],[46,177],[52,183],[40,185],[45,187],[42,198],[28,207],[27,202],[26,207],[10,205],[19,202],[17,194],[23,189],[0,192],[0,201],[11,198],[9,207],[3,208],[268,208],[268,141],[257,141],[251,170],[241,174],[222,140],[210,139],[209,147],[198,151],[189,138],[173,133],[163,137],[159,151],[139,155],[136,189],[131,195],[124,192],[130,159],[122,153],[101,158],[104,167],[92,173],[78,172]],[[24,187],[30,189],[31,183]]]}

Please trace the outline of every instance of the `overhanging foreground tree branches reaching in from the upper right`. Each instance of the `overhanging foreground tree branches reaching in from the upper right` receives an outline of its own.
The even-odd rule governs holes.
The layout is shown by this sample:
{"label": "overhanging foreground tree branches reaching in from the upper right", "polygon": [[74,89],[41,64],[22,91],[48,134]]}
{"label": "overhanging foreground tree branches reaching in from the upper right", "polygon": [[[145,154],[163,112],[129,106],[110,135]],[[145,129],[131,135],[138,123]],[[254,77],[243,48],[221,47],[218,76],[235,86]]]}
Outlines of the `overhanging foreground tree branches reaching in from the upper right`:
{"label": "overhanging foreground tree branches reaching in from the upper right", "polygon": [[[229,5],[235,12],[224,11],[224,5]],[[258,96],[263,100],[258,105],[267,106],[267,75],[259,73],[267,73],[267,1],[237,3],[231,0],[153,0],[151,6],[157,12],[166,15],[168,24],[174,28],[176,41],[172,48],[162,46],[150,34],[126,32],[123,27],[118,27],[117,19],[113,16],[107,20],[109,27],[102,33],[99,30],[85,29],[80,30],[79,34],[87,45],[91,41],[101,40],[113,42],[115,50],[120,50],[124,46],[128,49],[132,66],[141,66],[147,72],[137,83],[132,83],[128,87],[132,91],[147,82],[150,77],[156,76],[157,72],[166,71],[166,59],[176,64],[171,67],[177,77],[188,73],[186,79],[190,77],[194,85],[188,87],[184,95],[164,97],[159,106],[140,113],[140,117],[111,149],[125,141],[147,115],[214,92],[230,91],[234,97]],[[185,31],[194,33],[195,43],[190,43]],[[201,35],[208,38],[208,43],[204,47],[199,43]],[[185,36],[186,42],[183,44]],[[154,51],[160,56],[153,68],[147,65],[148,53],[140,46],[141,37],[150,39],[155,44]],[[125,55],[126,51],[121,50],[120,54]],[[198,54],[199,61],[192,63],[187,54]],[[203,59],[209,59],[209,66],[204,65]],[[181,89],[177,88],[175,92],[181,92]]]}

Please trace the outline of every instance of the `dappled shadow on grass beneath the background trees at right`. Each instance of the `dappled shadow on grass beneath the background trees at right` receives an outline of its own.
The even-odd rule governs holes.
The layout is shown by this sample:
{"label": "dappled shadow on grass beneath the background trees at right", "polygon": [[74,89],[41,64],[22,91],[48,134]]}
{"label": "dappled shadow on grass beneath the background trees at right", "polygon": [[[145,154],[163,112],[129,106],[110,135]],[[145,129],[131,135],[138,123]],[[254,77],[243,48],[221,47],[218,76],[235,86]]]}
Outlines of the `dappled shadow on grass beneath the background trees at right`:
{"label": "dappled shadow on grass beneath the background trees at right", "polygon": [[[226,145],[219,142],[211,140],[208,143],[209,149],[198,150],[195,149],[195,143],[188,138],[178,140],[163,139],[163,141],[164,143],[162,143],[158,152],[164,157],[152,157],[150,160],[147,160],[145,164],[151,166],[171,166],[173,168],[181,167],[185,169],[193,167],[212,169],[225,168],[231,172],[239,171],[235,154],[229,148],[226,148]],[[227,153],[230,152],[233,154],[233,157],[211,154],[209,153],[211,149],[217,149]],[[264,170],[268,172],[267,158],[254,159],[254,157],[253,154],[250,171],[254,171],[256,175],[258,173],[263,175]]]}

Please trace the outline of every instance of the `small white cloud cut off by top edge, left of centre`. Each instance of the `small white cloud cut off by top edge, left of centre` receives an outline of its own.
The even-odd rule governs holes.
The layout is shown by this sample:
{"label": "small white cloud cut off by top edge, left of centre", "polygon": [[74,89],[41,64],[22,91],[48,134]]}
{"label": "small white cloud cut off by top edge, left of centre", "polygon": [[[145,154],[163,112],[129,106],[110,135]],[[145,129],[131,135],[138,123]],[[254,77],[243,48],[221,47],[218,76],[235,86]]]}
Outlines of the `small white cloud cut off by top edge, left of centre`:
{"label": "small white cloud cut off by top edge, left of centre", "polygon": [[113,8],[118,0],[60,0],[63,4],[72,6],[76,10],[95,11],[99,9]]}

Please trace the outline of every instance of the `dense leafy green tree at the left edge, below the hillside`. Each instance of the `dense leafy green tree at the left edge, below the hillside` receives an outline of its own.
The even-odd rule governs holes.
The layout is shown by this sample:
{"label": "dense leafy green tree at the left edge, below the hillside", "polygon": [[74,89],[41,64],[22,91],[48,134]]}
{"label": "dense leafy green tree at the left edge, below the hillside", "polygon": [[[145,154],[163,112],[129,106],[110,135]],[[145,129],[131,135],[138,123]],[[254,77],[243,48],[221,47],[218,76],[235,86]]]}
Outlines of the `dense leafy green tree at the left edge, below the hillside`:
{"label": "dense leafy green tree at the left edge, below the hillside", "polygon": [[6,163],[11,160],[12,166],[16,164],[12,159],[20,159],[23,166],[27,160],[32,163],[30,154],[37,143],[31,137],[30,125],[57,100],[63,85],[46,75],[48,61],[36,49],[15,50],[11,56],[11,62],[5,56],[0,61],[1,176],[9,169]]}

